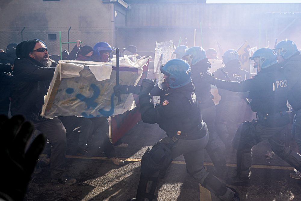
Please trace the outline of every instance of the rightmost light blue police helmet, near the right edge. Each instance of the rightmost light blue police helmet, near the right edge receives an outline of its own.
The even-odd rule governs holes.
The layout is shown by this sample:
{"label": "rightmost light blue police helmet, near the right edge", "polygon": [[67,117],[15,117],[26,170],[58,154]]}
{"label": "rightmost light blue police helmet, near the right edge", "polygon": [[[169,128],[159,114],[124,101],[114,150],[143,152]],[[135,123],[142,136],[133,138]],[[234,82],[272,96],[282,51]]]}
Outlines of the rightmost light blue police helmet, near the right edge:
{"label": "rightmost light blue police helmet, near the right edge", "polygon": [[276,45],[274,51],[277,56],[281,56],[283,59],[288,59],[298,51],[298,48],[293,41],[283,40]]}

